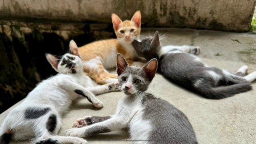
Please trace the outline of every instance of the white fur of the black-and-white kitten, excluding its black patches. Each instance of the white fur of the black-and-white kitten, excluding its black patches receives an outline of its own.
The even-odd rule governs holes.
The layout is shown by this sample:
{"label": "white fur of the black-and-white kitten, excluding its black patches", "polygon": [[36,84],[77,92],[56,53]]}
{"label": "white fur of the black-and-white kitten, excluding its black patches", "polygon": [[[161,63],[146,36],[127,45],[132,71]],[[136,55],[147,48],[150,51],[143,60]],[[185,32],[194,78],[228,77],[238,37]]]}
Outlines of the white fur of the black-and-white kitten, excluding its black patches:
{"label": "white fur of the black-and-white kitten, excluding its black patches", "polygon": [[[74,90],[82,90],[82,92],[90,98],[94,106],[102,107],[102,102],[98,100],[94,94],[115,91],[118,83],[93,86],[92,80],[83,74],[80,58],[72,54],[65,54],[62,59],[66,58],[66,56],[76,58],[73,61],[76,63],[74,67],[76,73],[72,74],[71,69],[66,68],[65,65],[61,66],[59,63],[58,69],[55,69],[60,73],[39,83],[36,88],[28,94],[24,102],[8,114],[0,128],[0,136],[4,133],[11,133],[14,140],[34,138],[34,142],[40,142],[46,138],[52,138],[59,142],[87,143],[86,140],[80,138],[53,136],[46,128],[46,122],[49,116],[51,114],[56,115],[56,128],[53,132],[54,135],[56,135],[61,127],[60,116],[67,112],[72,100],[82,97],[76,94]],[[49,56],[50,59],[53,57],[54,56]],[[112,89],[109,90],[108,86],[112,86]],[[50,108],[50,111],[39,118],[28,119],[25,118],[25,111],[30,107]]]}

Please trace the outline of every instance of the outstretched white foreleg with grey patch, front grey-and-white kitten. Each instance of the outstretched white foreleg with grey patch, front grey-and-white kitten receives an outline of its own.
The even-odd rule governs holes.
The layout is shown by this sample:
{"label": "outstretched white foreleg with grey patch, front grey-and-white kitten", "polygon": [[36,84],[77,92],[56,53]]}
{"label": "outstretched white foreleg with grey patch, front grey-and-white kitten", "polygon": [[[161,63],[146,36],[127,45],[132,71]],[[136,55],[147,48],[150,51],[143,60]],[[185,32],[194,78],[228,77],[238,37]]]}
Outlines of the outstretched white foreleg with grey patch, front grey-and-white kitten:
{"label": "outstretched white foreleg with grey patch, front grey-and-white kitten", "polygon": [[93,136],[96,134],[111,132],[113,130],[120,130],[127,126],[126,120],[123,120],[120,117],[110,118],[103,122],[98,122],[90,126],[82,128],[71,128],[66,130],[66,136],[76,136],[79,138]]}

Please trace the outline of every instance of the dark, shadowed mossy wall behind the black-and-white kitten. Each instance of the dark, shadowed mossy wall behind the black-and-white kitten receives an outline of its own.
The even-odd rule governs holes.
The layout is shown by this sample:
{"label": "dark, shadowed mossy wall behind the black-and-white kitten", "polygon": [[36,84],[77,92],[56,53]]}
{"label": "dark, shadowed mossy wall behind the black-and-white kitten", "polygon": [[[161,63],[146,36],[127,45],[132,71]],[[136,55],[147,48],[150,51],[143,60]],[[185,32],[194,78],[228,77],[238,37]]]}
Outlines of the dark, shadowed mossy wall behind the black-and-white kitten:
{"label": "dark, shadowed mossy wall behind the black-and-white kitten", "polygon": [[71,39],[82,46],[107,38],[114,38],[111,24],[0,21],[0,113],[56,74],[45,53],[66,53]]}

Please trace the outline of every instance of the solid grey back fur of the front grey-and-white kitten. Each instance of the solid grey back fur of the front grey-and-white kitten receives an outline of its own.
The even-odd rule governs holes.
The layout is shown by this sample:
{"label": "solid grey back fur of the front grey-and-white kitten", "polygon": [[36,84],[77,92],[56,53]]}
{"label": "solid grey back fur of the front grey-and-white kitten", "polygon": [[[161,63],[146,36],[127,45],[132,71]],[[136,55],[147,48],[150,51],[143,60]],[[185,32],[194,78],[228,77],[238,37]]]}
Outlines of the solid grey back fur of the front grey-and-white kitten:
{"label": "solid grey back fur of the front grey-and-white kitten", "polygon": [[172,104],[148,94],[144,102],[144,119],[153,126],[149,144],[197,144],[188,118]]}

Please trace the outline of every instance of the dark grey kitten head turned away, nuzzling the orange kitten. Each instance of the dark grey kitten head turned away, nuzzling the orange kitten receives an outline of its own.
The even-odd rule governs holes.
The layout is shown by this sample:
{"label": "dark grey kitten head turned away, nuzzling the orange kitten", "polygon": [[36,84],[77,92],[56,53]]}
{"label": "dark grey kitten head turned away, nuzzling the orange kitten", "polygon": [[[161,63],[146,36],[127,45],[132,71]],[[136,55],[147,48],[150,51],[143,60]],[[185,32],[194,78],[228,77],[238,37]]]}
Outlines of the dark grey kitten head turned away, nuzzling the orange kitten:
{"label": "dark grey kitten head turned away, nuzzling the orange kitten", "polygon": [[155,32],[153,37],[145,38],[141,42],[134,40],[132,46],[138,56],[151,60],[157,58],[161,45],[158,32]]}

